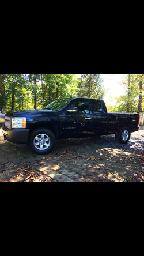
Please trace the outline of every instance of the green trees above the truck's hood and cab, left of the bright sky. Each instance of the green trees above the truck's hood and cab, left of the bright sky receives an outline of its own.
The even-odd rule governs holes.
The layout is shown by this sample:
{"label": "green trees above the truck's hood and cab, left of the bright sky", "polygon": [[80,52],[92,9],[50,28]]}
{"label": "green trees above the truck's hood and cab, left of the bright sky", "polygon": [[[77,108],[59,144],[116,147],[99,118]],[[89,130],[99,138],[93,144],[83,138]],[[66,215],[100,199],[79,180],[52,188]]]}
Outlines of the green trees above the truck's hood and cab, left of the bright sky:
{"label": "green trees above the truck's hood and cab, left of the bright sky", "polygon": [[0,108],[18,110],[42,108],[52,101],[70,97],[104,96],[99,74],[0,74]]}

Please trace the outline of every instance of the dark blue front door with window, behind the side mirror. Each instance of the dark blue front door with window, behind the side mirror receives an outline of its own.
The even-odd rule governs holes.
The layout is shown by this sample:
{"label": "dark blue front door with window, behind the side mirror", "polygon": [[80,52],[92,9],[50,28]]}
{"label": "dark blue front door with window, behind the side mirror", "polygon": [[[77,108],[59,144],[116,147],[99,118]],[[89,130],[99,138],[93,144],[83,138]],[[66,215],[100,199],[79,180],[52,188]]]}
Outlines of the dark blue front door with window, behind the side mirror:
{"label": "dark blue front door with window, behind the side mirror", "polygon": [[[70,107],[77,107],[77,112],[67,112]],[[92,134],[92,115],[87,99],[74,99],[60,116],[62,138],[90,137]]]}

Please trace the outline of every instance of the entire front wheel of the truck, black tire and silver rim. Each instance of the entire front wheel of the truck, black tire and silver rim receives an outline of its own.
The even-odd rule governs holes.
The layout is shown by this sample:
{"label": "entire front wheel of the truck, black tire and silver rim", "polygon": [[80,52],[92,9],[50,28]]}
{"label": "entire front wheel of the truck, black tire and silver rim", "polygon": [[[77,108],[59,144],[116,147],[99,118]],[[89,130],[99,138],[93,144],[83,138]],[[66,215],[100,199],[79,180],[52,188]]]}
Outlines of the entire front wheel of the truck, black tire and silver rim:
{"label": "entire front wheel of the truck, black tire and silver rim", "polygon": [[51,152],[56,143],[54,133],[47,128],[33,130],[29,134],[28,146],[33,153],[44,155]]}

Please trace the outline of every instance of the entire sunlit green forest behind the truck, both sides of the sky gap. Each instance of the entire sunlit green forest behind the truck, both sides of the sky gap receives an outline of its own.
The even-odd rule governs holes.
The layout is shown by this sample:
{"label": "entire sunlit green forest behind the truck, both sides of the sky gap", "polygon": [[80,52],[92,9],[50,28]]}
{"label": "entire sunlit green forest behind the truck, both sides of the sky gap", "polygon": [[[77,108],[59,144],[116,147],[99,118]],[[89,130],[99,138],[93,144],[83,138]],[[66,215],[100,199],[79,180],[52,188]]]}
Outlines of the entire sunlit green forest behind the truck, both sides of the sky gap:
{"label": "entire sunlit green forest behind the truck, both sides of the sky gap", "polygon": [[[144,74],[123,76],[125,93],[109,95],[108,112],[144,111]],[[65,97],[103,99],[109,94],[100,74],[0,74],[0,110],[43,108]]]}

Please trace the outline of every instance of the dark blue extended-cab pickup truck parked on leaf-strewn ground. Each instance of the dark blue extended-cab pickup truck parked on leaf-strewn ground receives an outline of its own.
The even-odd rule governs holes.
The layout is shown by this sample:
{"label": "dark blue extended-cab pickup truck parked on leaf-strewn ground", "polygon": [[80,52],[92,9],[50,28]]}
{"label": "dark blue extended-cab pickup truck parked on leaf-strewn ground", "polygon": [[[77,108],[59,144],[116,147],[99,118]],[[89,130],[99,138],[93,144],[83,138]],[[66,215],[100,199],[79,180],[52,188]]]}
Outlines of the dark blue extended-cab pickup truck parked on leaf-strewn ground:
{"label": "dark blue extended-cab pickup truck parked on leaf-strewn ground", "polygon": [[6,112],[4,139],[36,154],[47,154],[56,140],[115,134],[121,144],[139,130],[139,114],[108,113],[101,99],[72,97],[55,100],[43,109]]}

